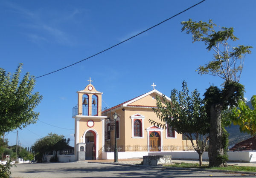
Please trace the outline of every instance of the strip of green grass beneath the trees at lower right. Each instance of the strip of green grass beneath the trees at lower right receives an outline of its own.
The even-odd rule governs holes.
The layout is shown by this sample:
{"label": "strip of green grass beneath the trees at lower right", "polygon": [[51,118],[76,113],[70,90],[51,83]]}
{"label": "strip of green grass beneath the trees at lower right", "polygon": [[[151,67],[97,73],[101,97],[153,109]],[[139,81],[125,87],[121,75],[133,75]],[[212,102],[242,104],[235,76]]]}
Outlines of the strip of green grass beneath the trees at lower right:
{"label": "strip of green grass beneath the trees at lower right", "polygon": [[227,167],[208,167],[208,164],[199,164],[193,163],[174,163],[165,165],[167,167],[186,167],[186,168],[200,168],[200,169],[218,169],[218,170],[227,170],[227,171],[246,171],[246,172],[256,172],[256,167],[246,167],[246,166],[227,166]]}

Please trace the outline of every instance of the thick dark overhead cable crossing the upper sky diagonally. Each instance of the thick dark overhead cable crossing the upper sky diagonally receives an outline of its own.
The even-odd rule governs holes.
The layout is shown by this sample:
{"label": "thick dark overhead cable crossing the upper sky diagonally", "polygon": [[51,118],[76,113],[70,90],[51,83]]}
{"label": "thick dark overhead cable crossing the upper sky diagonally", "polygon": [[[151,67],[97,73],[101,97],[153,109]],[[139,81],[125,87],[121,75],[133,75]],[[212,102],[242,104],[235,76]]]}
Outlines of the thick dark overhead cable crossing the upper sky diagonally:
{"label": "thick dark overhead cable crossing the upper sky diagonally", "polygon": [[113,47],[116,47],[116,46],[118,46],[118,45],[120,45],[120,44],[122,44],[122,43],[124,43],[124,42],[126,42],[126,41],[128,41],[128,40],[131,40],[132,38],[137,37],[138,35],[143,34],[143,33],[147,32],[148,30],[153,29],[153,28],[156,27],[156,26],[159,26],[160,24],[166,22],[167,20],[172,19],[173,17],[176,17],[177,15],[180,15],[180,14],[182,14],[183,12],[185,12],[185,11],[187,11],[187,10],[189,10],[189,9],[192,9],[193,7],[197,6],[198,4],[203,3],[204,1],[206,1],[206,0],[202,0],[202,1],[200,1],[199,3],[197,3],[197,4],[195,4],[195,5],[193,5],[193,6],[189,7],[189,8],[187,8],[187,9],[185,9],[185,10],[183,10],[183,11],[177,13],[177,14],[175,14],[174,16],[172,16],[172,17],[170,17],[170,18],[168,18],[168,19],[166,19],[166,20],[163,20],[162,22],[157,23],[157,24],[154,25],[154,26],[151,26],[150,28],[144,30],[143,32],[140,32],[140,33],[138,33],[138,34],[136,34],[136,35],[134,35],[134,36],[132,36],[132,37],[129,37],[128,39],[123,40],[122,42],[117,43],[116,45],[111,46],[111,47],[109,47],[109,48],[107,48],[107,49],[105,49],[105,50],[103,50],[103,51],[101,51],[101,52],[98,52],[98,53],[96,53],[95,55],[91,55],[90,57],[87,57],[87,58],[85,58],[85,59],[83,59],[83,60],[80,60],[80,61],[78,61],[78,62],[76,62],[76,63],[70,64],[69,66],[65,66],[65,67],[63,67],[63,68],[61,68],[61,69],[55,70],[55,71],[53,71],[53,72],[49,72],[49,73],[47,73],[47,74],[38,76],[38,77],[36,77],[36,78],[41,78],[41,77],[44,77],[44,76],[46,76],[46,75],[49,75],[49,74],[58,72],[58,71],[63,70],[63,69],[66,69],[66,68],[68,68],[68,67],[70,67],[70,66],[73,66],[73,65],[75,65],[75,64],[77,64],[77,63],[81,63],[81,62],[84,61],[84,60],[90,59],[91,57],[94,57],[94,56],[96,56],[96,55],[99,55],[99,54],[101,54],[102,52],[108,51],[109,49],[111,49],[111,48],[113,48]]}

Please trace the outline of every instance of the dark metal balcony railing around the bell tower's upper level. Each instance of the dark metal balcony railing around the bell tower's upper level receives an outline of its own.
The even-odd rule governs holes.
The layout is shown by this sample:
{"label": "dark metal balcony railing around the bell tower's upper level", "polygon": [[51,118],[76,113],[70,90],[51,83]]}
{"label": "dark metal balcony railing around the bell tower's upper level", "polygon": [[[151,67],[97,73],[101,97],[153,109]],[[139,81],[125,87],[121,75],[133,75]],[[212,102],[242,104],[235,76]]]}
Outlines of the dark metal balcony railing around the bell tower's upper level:
{"label": "dark metal balcony railing around the bell tower's upper level", "polygon": [[[96,116],[96,115],[101,115],[102,111],[105,111],[107,109],[107,107],[102,107],[100,111],[97,111],[97,106],[85,106],[85,105],[82,105],[82,106],[75,106],[73,107],[73,114],[72,116],[75,116],[75,115],[93,115],[93,116]],[[78,112],[79,110],[79,112]],[[91,110],[91,113],[89,114],[89,110]]]}

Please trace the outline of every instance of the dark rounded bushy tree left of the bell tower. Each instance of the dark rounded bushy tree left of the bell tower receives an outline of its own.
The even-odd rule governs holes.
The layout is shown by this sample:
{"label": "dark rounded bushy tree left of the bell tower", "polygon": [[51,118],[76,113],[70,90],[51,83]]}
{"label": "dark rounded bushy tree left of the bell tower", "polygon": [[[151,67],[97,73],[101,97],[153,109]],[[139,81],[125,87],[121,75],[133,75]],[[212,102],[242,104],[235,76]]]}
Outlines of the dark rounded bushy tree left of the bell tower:
{"label": "dark rounded bushy tree left of the bell tower", "polygon": [[31,148],[35,153],[36,160],[41,162],[46,161],[44,158],[47,157],[49,152],[68,148],[69,141],[70,138],[64,138],[63,135],[49,133],[46,137],[38,139]]}

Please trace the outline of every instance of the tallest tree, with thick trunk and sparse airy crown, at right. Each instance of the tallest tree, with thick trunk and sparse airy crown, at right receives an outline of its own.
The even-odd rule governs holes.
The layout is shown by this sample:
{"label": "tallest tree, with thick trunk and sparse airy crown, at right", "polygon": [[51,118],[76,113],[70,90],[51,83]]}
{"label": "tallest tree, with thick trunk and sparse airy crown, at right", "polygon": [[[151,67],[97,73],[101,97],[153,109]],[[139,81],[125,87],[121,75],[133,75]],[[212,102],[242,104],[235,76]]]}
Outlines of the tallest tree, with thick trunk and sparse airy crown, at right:
{"label": "tallest tree, with thick trunk and sparse airy crown, at right", "polygon": [[224,166],[221,113],[228,106],[236,106],[243,99],[244,86],[239,83],[244,66],[244,57],[250,54],[251,46],[238,45],[231,47],[229,41],[238,38],[233,34],[233,28],[222,27],[215,31],[216,25],[209,22],[194,22],[191,19],[181,22],[182,31],[192,34],[192,42],[201,41],[212,52],[213,59],[204,66],[199,66],[198,73],[220,77],[224,80],[224,88],[210,86],[204,94],[207,115],[210,120],[209,131],[209,166]]}

